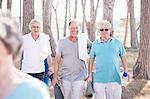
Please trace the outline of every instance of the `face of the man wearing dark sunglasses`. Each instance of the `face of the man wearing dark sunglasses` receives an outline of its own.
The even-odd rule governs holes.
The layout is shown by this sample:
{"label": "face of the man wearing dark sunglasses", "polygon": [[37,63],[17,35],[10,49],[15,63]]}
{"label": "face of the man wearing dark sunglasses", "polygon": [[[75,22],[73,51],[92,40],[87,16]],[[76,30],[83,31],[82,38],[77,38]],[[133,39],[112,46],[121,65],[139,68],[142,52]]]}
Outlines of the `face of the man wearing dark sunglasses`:
{"label": "face of the man wearing dark sunglasses", "polygon": [[110,38],[111,27],[107,24],[103,24],[100,26],[99,33],[102,39],[108,40]]}

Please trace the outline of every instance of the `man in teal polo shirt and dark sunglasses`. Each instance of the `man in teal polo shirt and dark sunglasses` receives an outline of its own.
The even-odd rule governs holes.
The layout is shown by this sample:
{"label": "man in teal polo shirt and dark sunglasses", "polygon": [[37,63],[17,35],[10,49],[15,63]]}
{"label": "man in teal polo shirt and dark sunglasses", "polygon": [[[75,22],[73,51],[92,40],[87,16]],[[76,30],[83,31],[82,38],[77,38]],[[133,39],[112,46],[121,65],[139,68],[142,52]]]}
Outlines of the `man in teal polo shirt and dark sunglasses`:
{"label": "man in teal polo shirt and dark sunglasses", "polygon": [[120,59],[127,76],[126,51],[119,40],[110,36],[110,22],[102,20],[97,24],[100,37],[92,44],[88,81],[92,80],[92,69],[96,59],[96,72],[93,75],[95,99],[121,99]]}

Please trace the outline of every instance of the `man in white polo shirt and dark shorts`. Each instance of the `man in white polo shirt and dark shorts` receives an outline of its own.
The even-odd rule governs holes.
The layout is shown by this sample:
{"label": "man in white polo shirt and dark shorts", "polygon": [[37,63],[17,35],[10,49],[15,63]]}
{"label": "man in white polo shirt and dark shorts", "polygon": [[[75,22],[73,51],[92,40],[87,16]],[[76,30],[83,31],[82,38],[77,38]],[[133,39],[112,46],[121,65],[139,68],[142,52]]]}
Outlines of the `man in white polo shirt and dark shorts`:
{"label": "man in white polo shirt and dark shorts", "polygon": [[45,71],[44,59],[49,57],[49,63],[51,63],[49,36],[41,33],[41,23],[39,20],[32,19],[29,28],[31,32],[23,36],[21,70],[35,78],[43,80]]}

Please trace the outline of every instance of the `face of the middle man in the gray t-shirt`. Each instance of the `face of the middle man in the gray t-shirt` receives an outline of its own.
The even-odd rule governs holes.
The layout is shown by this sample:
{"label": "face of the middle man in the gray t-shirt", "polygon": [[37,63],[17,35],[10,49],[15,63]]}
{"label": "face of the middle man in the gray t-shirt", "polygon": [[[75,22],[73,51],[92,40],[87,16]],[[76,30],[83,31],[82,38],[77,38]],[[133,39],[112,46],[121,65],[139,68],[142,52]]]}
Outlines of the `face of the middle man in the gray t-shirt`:
{"label": "face of the middle man in the gray t-shirt", "polygon": [[72,22],[69,26],[69,32],[71,37],[77,37],[79,26],[77,23]]}

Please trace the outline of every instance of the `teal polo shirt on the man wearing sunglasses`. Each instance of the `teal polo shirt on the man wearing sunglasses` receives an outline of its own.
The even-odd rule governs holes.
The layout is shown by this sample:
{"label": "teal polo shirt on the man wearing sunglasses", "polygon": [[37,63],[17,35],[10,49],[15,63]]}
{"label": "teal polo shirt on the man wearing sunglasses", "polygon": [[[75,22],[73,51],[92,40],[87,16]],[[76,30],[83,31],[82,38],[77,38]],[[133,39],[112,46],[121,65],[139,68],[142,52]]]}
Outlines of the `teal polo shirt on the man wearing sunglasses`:
{"label": "teal polo shirt on the man wearing sunglasses", "polygon": [[120,41],[110,38],[108,42],[97,39],[93,42],[90,58],[96,59],[94,82],[118,82],[120,79],[120,57],[125,55],[125,49]]}

